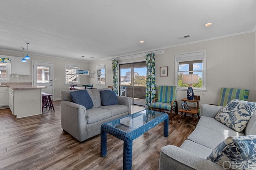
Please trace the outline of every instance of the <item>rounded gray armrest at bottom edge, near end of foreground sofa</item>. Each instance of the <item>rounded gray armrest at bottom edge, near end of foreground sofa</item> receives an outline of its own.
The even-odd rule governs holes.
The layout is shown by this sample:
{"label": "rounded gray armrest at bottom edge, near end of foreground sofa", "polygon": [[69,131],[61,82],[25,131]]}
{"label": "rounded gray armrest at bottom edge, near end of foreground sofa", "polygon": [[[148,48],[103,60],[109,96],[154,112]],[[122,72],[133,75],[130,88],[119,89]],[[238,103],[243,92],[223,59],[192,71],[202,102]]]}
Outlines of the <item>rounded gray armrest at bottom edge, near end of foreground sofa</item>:
{"label": "rounded gray armrest at bottom edge, near end of foreground sofa", "polygon": [[174,145],[162,147],[159,170],[223,170],[222,166]]}

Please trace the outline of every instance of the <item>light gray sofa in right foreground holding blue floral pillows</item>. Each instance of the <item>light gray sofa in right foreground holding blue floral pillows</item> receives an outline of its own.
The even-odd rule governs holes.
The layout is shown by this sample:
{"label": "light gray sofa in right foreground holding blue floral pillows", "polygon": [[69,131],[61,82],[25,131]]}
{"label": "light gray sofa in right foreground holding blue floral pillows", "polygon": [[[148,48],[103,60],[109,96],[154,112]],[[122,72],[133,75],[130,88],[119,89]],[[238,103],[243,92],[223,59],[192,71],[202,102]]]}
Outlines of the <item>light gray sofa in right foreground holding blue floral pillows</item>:
{"label": "light gray sofa in right foreground holding blue floral pillows", "polygon": [[207,160],[212,150],[228,136],[256,135],[256,114],[242,132],[236,132],[216,121],[221,106],[202,104],[201,117],[196,129],[180,147],[162,147],[160,170],[223,170],[222,166]]}

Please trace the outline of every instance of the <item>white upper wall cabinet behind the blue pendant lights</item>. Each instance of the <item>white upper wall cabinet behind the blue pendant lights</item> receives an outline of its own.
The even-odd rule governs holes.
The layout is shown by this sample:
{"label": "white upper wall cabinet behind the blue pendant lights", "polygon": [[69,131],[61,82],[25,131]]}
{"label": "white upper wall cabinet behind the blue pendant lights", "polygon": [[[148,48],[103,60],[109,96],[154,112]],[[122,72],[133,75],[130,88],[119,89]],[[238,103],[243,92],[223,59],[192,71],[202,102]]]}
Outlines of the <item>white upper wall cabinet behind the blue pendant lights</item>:
{"label": "white upper wall cabinet behind the blue pendant lights", "polygon": [[21,57],[12,57],[11,74],[30,75],[31,61],[21,62]]}

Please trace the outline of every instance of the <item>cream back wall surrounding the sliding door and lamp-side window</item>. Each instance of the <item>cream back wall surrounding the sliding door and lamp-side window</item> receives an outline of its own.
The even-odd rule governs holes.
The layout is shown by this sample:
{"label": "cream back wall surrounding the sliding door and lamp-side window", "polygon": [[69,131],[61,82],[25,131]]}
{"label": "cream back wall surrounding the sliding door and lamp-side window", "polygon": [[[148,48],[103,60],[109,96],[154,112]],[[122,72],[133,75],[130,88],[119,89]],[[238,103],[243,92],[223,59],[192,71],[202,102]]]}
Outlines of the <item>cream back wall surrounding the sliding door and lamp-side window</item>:
{"label": "cream back wall surrounding the sliding door and lamp-side window", "polygon": [[[221,87],[246,88],[250,90],[249,100],[256,101],[256,33],[246,33],[220,39],[214,39],[189,45],[165,49],[164,54],[156,58],[156,86],[174,86],[174,56],[178,53],[206,50],[206,92],[196,92],[202,103],[218,104]],[[146,60],[146,57],[119,59],[118,63]],[[97,64],[106,64],[106,86],[112,86],[112,62],[109,60],[90,62],[90,71],[96,71]],[[160,67],[168,66],[168,77],[160,77]],[[90,78],[90,84],[96,78]],[[186,91],[177,92],[177,101],[186,98]],[[180,104],[179,104],[180,105]]]}

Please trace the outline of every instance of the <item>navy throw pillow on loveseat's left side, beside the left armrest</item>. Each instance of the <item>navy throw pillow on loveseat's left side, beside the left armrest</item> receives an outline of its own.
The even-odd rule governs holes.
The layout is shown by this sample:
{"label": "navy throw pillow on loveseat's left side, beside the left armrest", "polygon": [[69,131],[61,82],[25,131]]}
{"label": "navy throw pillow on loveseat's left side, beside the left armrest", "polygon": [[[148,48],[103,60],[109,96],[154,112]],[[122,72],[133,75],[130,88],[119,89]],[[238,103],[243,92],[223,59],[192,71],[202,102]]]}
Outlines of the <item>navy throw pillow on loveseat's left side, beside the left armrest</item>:
{"label": "navy throw pillow on loveseat's left side, beside the left armrest", "polygon": [[69,93],[73,102],[84,106],[86,109],[93,107],[92,99],[87,90],[77,90]]}

